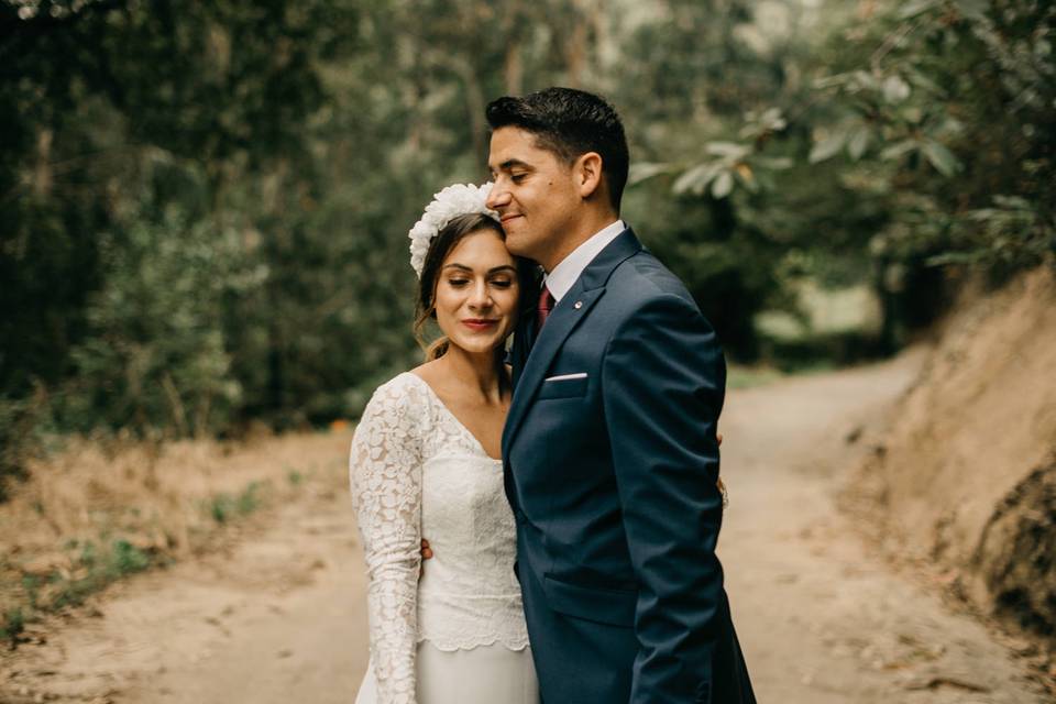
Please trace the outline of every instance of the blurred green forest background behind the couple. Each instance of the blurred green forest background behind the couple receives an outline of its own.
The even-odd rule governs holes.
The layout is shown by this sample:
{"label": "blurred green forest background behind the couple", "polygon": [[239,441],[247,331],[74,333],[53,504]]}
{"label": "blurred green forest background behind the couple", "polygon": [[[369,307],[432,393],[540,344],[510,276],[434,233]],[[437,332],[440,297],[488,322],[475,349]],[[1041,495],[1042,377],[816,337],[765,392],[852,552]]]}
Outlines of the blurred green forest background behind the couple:
{"label": "blurred green forest background behind the couple", "polygon": [[[1056,251],[1043,0],[2,0],[0,487],[72,433],[355,417],[484,106],[606,96],[727,355],[897,351]],[[825,312],[827,311],[827,314]],[[825,314],[825,315],[823,315]]]}

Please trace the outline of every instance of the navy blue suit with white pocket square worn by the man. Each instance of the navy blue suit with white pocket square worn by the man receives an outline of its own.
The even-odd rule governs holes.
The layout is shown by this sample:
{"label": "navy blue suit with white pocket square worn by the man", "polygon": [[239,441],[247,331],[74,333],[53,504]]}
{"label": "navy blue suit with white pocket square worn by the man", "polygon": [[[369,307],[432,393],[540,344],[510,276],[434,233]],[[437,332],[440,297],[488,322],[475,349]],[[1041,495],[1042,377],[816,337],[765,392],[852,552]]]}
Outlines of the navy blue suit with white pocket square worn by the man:
{"label": "navy blue suit with white pocket square worn by the man", "polygon": [[711,326],[628,229],[534,328],[503,458],[544,704],[754,703],[715,556]]}

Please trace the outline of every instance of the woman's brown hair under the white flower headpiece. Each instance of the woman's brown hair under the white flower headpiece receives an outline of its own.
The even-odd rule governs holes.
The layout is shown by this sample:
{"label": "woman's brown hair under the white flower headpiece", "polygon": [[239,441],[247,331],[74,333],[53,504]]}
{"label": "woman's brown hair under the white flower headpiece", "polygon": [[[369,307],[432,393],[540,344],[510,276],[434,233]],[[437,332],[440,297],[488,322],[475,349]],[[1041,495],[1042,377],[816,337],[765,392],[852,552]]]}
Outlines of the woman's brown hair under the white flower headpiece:
{"label": "woman's brown hair under the white flower headpiece", "polygon": [[[441,336],[427,344],[424,334],[426,323],[437,319],[436,297],[440,267],[443,265],[443,260],[448,257],[448,254],[459,242],[481,230],[492,230],[504,242],[506,241],[506,233],[503,232],[502,226],[488,216],[474,212],[452,218],[429,242],[426,262],[421,267],[421,278],[418,279],[418,298],[415,302],[415,338],[426,351],[427,362],[443,356],[449,345],[446,336]],[[535,290],[536,267],[528,260],[519,256],[514,258],[517,261],[518,290],[520,292],[518,307],[520,308],[520,315],[525,315],[525,311],[531,309],[534,304],[532,292]],[[502,358],[503,351],[503,348],[498,348],[495,353]]]}

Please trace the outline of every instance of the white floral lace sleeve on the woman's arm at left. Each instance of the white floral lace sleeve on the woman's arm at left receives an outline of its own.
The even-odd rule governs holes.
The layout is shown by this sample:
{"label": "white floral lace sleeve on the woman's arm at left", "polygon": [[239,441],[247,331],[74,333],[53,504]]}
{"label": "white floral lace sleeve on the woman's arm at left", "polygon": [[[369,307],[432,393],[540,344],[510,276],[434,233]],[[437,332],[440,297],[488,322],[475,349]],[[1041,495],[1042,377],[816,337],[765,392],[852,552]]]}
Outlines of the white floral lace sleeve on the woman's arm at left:
{"label": "white floral lace sleeve on the woman's arm at left", "polygon": [[366,558],[378,704],[415,704],[421,461],[408,391],[388,384],[375,392],[355,429],[349,468]]}

